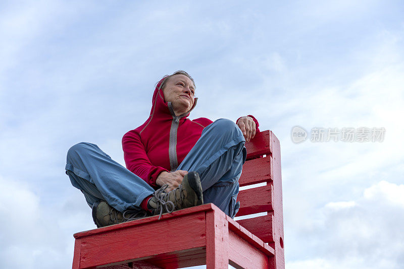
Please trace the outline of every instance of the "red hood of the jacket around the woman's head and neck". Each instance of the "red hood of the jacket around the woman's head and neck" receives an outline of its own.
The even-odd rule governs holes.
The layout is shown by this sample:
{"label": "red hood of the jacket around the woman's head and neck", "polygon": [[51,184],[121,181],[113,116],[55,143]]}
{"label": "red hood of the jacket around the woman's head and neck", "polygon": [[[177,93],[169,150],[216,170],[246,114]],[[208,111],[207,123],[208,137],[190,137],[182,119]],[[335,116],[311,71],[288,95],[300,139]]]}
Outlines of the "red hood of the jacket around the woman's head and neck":
{"label": "red hood of the jacket around the woman's head and neck", "polygon": [[[161,85],[163,84],[164,80],[166,80],[168,78],[168,76],[164,76],[156,85],[156,89],[153,93],[153,99],[151,101],[151,110],[150,110],[150,116],[153,116],[155,114],[159,114],[159,115],[168,115],[170,116],[170,118],[172,118],[173,116],[173,112],[171,112],[171,109],[169,108],[169,105],[171,106],[171,102],[166,102],[164,100],[164,94],[163,94],[163,90],[161,89]],[[196,101],[198,98],[194,99],[193,105],[191,107],[191,109],[189,111],[187,111],[186,113],[178,116],[181,118],[186,118],[189,116],[189,113],[192,111],[192,109],[194,109],[194,107],[196,106]]]}

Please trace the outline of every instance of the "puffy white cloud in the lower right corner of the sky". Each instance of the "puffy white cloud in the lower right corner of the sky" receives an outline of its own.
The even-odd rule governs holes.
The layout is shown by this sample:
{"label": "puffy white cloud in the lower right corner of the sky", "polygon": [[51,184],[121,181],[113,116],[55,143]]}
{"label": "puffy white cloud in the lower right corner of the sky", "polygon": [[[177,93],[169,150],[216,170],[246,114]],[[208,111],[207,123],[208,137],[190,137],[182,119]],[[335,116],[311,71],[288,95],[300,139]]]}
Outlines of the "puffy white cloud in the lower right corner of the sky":
{"label": "puffy white cloud in the lower right corner of the sky", "polygon": [[[289,260],[298,268],[401,268],[404,261],[404,185],[380,181],[355,201],[327,203],[310,228],[299,229],[311,258]],[[306,244],[307,243],[307,244]]]}

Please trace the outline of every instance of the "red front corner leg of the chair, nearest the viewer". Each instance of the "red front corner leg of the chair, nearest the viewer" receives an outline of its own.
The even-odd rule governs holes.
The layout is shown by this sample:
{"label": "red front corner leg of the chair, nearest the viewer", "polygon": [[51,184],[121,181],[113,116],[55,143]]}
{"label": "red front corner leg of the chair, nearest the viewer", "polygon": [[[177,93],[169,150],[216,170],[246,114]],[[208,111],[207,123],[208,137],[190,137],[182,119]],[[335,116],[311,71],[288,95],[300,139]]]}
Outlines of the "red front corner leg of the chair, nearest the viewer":
{"label": "red front corner leg of the chair, nearest the viewer", "polygon": [[221,210],[206,213],[206,268],[228,269],[229,228]]}

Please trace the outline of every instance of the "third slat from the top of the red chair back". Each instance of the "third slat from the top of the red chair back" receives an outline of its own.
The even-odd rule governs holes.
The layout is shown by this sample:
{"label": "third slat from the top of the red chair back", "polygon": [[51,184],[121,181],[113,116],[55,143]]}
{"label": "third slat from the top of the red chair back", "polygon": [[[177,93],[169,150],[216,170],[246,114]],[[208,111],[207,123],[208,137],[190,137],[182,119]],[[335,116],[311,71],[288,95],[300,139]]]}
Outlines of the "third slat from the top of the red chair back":
{"label": "third slat from the top of the red chair back", "polygon": [[240,201],[240,209],[236,216],[272,211],[272,192],[272,184],[240,191],[237,195],[237,200]]}

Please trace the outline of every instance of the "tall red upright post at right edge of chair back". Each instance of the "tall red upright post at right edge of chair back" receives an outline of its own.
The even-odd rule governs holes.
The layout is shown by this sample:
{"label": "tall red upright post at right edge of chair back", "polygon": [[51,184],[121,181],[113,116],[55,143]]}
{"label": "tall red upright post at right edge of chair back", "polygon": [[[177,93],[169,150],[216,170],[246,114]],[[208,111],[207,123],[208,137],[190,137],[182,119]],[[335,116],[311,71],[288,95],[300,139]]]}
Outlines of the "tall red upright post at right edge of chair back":
{"label": "tall red upright post at right edge of chair back", "polygon": [[274,185],[274,243],[270,245],[275,249],[276,269],[285,268],[284,245],[283,245],[283,206],[282,206],[282,176],[281,176],[281,149],[279,140],[271,132],[272,167]]}

